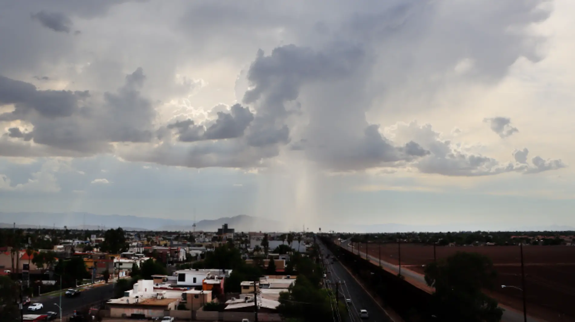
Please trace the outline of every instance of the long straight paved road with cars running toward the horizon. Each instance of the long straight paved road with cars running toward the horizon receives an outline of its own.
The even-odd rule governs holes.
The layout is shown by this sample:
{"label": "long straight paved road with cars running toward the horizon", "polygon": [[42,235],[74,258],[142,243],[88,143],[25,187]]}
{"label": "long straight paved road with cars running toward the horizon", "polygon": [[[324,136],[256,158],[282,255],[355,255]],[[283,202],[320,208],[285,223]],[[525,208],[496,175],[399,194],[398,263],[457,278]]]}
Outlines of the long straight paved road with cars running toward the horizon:
{"label": "long straight paved road with cars running toward the horizon", "polygon": [[[330,283],[340,282],[339,296],[340,300],[346,304],[348,315],[342,316],[342,321],[359,322],[359,321],[385,321],[392,322],[387,318],[384,310],[374,301],[365,289],[359,285],[358,281],[342,266],[338,261],[332,263],[333,254],[324,245],[320,244],[321,253],[329,254],[329,259],[324,259],[325,267],[328,270],[327,280]],[[345,299],[350,298],[351,304]],[[365,309],[369,312],[369,319],[362,320],[359,318],[359,310]]]}

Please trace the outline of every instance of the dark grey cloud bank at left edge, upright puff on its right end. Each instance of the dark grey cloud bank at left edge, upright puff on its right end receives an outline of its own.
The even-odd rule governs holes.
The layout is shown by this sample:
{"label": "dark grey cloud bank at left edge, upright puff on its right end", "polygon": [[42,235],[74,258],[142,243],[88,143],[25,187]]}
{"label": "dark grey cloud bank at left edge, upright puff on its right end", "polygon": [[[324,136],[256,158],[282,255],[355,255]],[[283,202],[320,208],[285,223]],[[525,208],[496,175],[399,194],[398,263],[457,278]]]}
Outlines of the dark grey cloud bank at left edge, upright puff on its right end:
{"label": "dark grey cloud bank at left edge, upright puff on its right end", "polygon": [[[34,143],[47,146],[40,149],[43,155],[91,155],[112,152],[113,142],[149,142],[156,111],[140,94],[144,80],[138,68],[116,92],[91,95],[88,91],[39,91],[32,84],[0,76],[0,105],[15,106],[14,111],[0,114],[0,121],[29,122],[33,130],[22,139],[32,137]],[[11,153],[35,155],[29,146],[6,145],[12,147]],[[2,149],[0,154],[9,150]]]}

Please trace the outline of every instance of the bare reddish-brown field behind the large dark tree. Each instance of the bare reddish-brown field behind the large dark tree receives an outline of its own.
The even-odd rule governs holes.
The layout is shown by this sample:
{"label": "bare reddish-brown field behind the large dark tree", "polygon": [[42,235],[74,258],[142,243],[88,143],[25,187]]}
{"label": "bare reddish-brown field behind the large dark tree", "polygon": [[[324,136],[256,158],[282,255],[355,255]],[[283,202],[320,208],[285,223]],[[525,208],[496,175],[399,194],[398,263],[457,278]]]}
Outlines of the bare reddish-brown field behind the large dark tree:
{"label": "bare reddish-brown field behind the large dark tree", "polygon": [[[374,258],[398,264],[398,245],[369,244],[368,253]],[[366,246],[360,250],[365,253]],[[356,245],[354,245],[356,250]],[[446,258],[458,251],[480,253],[492,259],[497,270],[497,285],[521,283],[519,246],[437,246],[436,258]],[[402,244],[401,266],[423,274],[424,265],[434,261],[434,247]],[[523,261],[526,276],[527,312],[549,322],[575,321],[575,247],[524,246]],[[523,311],[522,292],[513,288],[497,288],[491,295],[501,304]]]}

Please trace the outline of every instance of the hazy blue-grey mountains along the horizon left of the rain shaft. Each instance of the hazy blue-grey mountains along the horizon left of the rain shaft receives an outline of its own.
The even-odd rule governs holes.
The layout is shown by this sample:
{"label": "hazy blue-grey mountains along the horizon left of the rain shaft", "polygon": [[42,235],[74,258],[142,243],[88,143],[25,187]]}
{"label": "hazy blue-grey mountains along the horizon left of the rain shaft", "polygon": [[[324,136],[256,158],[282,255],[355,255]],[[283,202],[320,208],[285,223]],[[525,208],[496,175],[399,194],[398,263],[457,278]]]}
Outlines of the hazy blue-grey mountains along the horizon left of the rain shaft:
{"label": "hazy blue-grey mountains along the horizon left of the rain shaft", "polygon": [[[70,229],[109,229],[122,227],[124,230],[167,230],[191,231],[193,220],[175,220],[123,215],[95,215],[87,212],[48,213],[48,212],[0,212],[0,228],[63,228]],[[282,231],[283,224],[275,220],[238,215],[230,218],[200,220],[197,231],[216,231],[227,223],[236,231]],[[138,227],[134,227],[134,226]],[[85,228],[84,228],[85,227]]]}

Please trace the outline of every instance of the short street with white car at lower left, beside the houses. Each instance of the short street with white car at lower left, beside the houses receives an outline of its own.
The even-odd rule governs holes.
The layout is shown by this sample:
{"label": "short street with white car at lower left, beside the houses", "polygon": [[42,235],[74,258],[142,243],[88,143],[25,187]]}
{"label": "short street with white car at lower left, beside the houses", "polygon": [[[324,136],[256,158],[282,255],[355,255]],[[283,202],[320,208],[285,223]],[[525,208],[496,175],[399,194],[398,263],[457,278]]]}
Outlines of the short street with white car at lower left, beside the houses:
{"label": "short street with white car at lower left, beside the houses", "polygon": [[[113,284],[107,284],[103,286],[98,286],[96,288],[85,289],[81,292],[78,297],[67,298],[62,296],[62,315],[70,315],[75,310],[82,309],[85,305],[92,304],[94,302],[108,300],[113,296]],[[24,310],[24,314],[44,314],[48,311],[57,312],[60,314],[60,309],[57,305],[60,305],[59,296],[41,296],[32,298],[32,303],[41,303],[44,305],[39,311],[28,311]]]}

